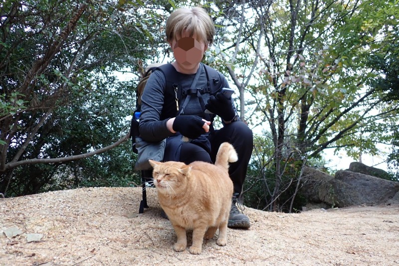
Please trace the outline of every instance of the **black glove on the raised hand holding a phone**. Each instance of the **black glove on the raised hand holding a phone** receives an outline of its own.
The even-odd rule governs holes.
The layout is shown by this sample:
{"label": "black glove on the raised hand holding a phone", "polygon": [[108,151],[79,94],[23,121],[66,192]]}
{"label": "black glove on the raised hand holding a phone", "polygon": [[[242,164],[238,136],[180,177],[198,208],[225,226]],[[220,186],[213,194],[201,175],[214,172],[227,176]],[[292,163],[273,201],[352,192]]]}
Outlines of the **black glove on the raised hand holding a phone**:
{"label": "black glove on the raised hand holding a phone", "polygon": [[235,112],[231,105],[231,98],[227,98],[223,93],[216,93],[216,96],[211,95],[205,104],[208,111],[220,116],[224,121],[231,121]]}

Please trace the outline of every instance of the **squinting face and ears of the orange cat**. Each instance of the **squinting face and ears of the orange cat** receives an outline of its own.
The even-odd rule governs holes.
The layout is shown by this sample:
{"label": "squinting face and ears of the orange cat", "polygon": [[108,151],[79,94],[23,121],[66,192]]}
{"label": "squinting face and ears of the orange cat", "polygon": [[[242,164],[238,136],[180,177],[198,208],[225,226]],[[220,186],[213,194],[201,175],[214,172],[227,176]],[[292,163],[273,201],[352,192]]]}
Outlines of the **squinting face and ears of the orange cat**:
{"label": "squinting face and ears of the orange cat", "polygon": [[190,167],[181,162],[160,163],[149,160],[154,168],[154,185],[160,193],[172,195],[181,187],[187,178]]}

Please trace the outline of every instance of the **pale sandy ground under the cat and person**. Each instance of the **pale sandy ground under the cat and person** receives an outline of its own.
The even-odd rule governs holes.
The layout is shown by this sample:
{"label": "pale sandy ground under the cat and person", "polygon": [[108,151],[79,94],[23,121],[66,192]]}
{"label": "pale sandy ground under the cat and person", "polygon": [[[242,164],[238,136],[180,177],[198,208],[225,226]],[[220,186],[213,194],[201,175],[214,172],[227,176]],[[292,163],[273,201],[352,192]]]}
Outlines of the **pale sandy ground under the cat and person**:
{"label": "pale sandy ground under the cat and person", "polygon": [[191,255],[172,249],[176,236],[155,189],[144,214],[140,200],[140,188],[0,199],[0,265],[399,265],[399,205],[299,214],[246,208],[249,230],[229,229],[227,246],[214,238]]}

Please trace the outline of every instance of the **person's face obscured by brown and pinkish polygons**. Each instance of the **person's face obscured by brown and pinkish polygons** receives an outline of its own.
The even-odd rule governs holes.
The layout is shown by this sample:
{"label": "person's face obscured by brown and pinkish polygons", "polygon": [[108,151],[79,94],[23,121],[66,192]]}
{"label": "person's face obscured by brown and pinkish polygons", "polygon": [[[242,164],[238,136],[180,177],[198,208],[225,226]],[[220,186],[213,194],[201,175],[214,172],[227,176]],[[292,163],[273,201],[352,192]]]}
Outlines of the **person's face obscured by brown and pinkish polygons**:
{"label": "person's face obscured by brown and pinkish polygons", "polygon": [[196,35],[189,37],[189,34],[183,34],[181,38],[172,40],[169,44],[181,72],[197,71],[203,53],[208,47],[204,42],[198,41]]}

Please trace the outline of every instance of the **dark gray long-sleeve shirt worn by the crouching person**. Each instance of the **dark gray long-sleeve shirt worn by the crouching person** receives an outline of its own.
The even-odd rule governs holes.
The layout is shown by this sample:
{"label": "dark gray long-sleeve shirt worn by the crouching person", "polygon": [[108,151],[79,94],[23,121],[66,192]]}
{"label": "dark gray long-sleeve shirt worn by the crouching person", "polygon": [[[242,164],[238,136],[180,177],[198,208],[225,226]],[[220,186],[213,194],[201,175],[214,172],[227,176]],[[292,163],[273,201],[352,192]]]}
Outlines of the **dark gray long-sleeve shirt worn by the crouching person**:
{"label": "dark gray long-sleeve shirt worn by the crouching person", "polygon": [[[207,78],[205,74],[204,67],[202,64],[199,68],[200,77],[197,81],[196,88],[205,88],[207,87]],[[179,88],[190,88],[196,74],[183,74],[178,72],[178,80],[176,83],[179,84]],[[219,73],[220,82],[222,82],[222,86],[220,88],[228,88],[228,83],[225,77]],[[166,86],[166,79],[162,71],[154,70],[154,72],[150,75],[147,80],[146,86],[144,88],[143,94],[141,96],[141,115],[140,115],[140,135],[145,141],[161,141],[171,135],[171,133],[166,126],[166,122],[169,118],[175,117],[166,117],[161,120],[162,114],[165,112],[164,108],[164,91],[168,89]],[[173,89],[173,88],[169,88]],[[213,93],[212,93],[213,94]],[[205,93],[202,94],[202,99],[204,103],[208,100],[210,94]],[[180,106],[185,101],[185,97],[180,99]],[[232,102],[234,111],[236,111],[235,105]],[[173,105],[176,106],[176,105]],[[175,107],[176,108],[176,107]],[[177,113],[176,109],[168,110],[168,113]],[[190,102],[185,108],[184,115],[198,115],[202,118],[205,117],[204,110],[200,105],[200,101],[198,97],[192,96]]]}

